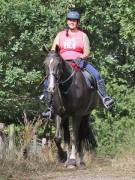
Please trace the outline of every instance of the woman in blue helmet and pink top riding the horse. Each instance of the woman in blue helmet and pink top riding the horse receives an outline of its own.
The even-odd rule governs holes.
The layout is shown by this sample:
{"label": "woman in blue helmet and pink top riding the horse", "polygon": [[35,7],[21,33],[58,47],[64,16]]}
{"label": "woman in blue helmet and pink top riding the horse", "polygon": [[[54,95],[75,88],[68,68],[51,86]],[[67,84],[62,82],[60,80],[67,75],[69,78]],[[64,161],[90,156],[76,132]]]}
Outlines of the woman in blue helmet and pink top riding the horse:
{"label": "woman in blue helmet and pink top riding the horse", "polygon": [[[87,63],[90,55],[90,43],[88,36],[78,28],[80,14],[75,10],[69,11],[66,20],[68,27],[57,34],[52,50],[55,50],[56,46],[58,46],[63,59],[73,59],[81,69],[85,68],[88,73],[92,74],[96,80],[97,92],[101,97],[103,105],[105,108],[110,109],[114,101],[106,94],[104,80],[99,72],[91,64]],[[45,84],[45,86],[47,85]],[[49,101],[48,105],[47,112],[43,113],[44,117],[51,117],[51,101]]]}

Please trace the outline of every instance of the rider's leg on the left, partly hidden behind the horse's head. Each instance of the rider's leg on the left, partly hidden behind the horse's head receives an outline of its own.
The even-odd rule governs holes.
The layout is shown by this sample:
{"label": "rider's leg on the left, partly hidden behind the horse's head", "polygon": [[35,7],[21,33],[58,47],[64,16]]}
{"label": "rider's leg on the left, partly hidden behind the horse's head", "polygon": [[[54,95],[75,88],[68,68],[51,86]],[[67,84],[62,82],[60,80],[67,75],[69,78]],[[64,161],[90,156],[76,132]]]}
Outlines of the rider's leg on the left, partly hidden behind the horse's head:
{"label": "rider's leg on the left, partly hidden behind the horse's head", "polygon": [[45,99],[46,105],[47,105],[47,111],[42,113],[42,116],[45,118],[52,118],[54,114],[54,109],[53,109],[53,102],[52,102],[52,95],[48,93],[47,88],[48,88],[48,80],[45,79],[44,81],[44,93],[40,96],[40,99]]}

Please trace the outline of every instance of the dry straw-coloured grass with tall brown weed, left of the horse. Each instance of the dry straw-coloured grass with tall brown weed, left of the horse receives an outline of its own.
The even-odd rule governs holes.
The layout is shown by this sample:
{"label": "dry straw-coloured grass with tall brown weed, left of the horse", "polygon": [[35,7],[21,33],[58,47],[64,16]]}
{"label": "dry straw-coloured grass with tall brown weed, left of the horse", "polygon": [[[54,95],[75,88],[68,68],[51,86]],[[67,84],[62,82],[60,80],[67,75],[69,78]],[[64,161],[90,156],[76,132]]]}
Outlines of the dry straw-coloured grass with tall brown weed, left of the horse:
{"label": "dry straw-coloured grass with tall brown weed, left of the horse", "polygon": [[[22,124],[24,128],[17,139],[20,142],[18,143],[19,147],[12,148],[12,150],[6,149],[4,158],[0,160],[0,180],[35,179],[39,174],[47,175],[48,172],[56,169],[54,149],[45,146],[40,153],[29,153],[29,144],[41,124],[40,117],[28,121],[26,113],[24,113],[24,123]],[[25,156],[24,152],[27,152]]]}

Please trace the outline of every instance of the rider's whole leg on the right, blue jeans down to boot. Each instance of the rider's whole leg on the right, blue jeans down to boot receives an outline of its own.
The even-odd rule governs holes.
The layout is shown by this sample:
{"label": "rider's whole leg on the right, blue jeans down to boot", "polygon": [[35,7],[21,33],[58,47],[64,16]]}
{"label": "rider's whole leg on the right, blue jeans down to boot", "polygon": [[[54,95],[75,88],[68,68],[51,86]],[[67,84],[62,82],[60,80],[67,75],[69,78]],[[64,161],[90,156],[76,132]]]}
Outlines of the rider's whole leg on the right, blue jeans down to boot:
{"label": "rider's whole leg on the right, blue jeans down to boot", "polygon": [[[82,60],[83,61],[83,60]],[[85,63],[85,69],[88,73],[94,76],[96,83],[97,83],[97,92],[101,97],[101,100],[103,102],[103,105],[105,108],[109,109],[112,107],[114,101],[111,97],[109,97],[106,93],[105,90],[105,83],[104,80],[101,79],[101,76],[99,72],[91,65],[88,63]]]}

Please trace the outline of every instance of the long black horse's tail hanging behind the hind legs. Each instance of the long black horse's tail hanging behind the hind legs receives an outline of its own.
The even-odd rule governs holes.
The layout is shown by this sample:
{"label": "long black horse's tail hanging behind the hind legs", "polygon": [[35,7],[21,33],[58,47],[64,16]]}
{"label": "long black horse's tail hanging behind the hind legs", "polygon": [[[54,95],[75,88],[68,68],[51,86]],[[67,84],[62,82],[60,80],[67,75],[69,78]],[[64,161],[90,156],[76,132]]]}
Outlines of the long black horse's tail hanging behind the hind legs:
{"label": "long black horse's tail hanging behind the hind legs", "polygon": [[86,150],[95,150],[97,147],[97,141],[90,125],[89,116],[82,118],[79,134],[78,134],[78,151],[81,151],[82,146],[85,146]]}

